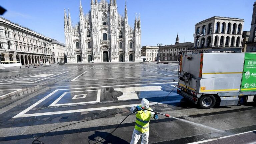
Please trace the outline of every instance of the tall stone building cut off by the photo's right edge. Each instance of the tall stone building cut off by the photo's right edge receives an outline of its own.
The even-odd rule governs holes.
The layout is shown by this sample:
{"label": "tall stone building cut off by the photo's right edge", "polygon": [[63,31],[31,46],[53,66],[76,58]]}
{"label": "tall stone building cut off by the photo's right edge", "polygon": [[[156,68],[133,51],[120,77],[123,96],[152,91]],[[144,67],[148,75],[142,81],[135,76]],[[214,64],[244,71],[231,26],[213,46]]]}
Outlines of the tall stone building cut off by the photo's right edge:
{"label": "tall stone building cut off by the photo's right edge", "polygon": [[253,5],[252,12],[252,22],[251,22],[251,30],[250,30],[250,38],[245,42],[245,51],[246,52],[256,52],[256,2]]}

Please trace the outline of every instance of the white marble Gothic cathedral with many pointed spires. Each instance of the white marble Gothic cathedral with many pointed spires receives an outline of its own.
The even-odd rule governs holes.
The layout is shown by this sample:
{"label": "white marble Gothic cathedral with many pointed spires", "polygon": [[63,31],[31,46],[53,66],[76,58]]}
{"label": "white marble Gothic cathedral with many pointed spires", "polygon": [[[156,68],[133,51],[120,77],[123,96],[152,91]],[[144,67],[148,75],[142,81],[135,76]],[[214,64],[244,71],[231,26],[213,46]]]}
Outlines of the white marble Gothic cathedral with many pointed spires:
{"label": "white marble Gothic cathedral with many pointed spires", "polygon": [[116,0],[91,0],[91,10],[83,13],[73,26],[70,13],[64,10],[64,32],[67,62],[127,62],[140,61],[141,26],[137,15],[134,28],[128,25],[127,7],[121,16]]}

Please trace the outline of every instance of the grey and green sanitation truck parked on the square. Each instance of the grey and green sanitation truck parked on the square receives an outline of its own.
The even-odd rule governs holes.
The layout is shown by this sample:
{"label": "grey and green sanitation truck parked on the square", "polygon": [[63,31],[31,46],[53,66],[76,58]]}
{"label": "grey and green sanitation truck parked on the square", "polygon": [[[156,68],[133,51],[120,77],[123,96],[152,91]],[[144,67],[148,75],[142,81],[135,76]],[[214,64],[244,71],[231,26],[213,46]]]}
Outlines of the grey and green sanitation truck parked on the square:
{"label": "grey and green sanitation truck parked on the square", "polygon": [[201,53],[180,56],[177,93],[209,109],[255,102],[256,53]]}

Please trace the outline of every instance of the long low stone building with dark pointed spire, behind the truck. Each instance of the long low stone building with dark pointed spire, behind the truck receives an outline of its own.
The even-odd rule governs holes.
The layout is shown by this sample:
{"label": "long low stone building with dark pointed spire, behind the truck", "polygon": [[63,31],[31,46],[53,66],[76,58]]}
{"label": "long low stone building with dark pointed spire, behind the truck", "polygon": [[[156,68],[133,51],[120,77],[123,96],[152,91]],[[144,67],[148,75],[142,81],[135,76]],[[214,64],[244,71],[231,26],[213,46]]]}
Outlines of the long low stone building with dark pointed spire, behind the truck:
{"label": "long low stone building with dark pointed spire, behind the truck", "polygon": [[159,51],[160,60],[161,61],[177,61],[177,55],[179,52],[192,49],[193,46],[194,46],[194,43],[192,42],[179,43],[179,36],[177,34],[174,45],[160,46],[160,51]]}

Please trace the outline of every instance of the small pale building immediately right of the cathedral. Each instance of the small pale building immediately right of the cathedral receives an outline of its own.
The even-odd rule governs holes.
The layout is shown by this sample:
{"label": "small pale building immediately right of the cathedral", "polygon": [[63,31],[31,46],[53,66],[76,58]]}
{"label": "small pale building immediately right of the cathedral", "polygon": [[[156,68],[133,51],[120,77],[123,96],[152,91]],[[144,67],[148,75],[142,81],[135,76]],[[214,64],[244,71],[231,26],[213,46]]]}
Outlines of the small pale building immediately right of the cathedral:
{"label": "small pale building immediately right of the cathedral", "polygon": [[146,57],[146,61],[157,61],[159,54],[159,46],[143,46],[141,48],[141,56]]}

